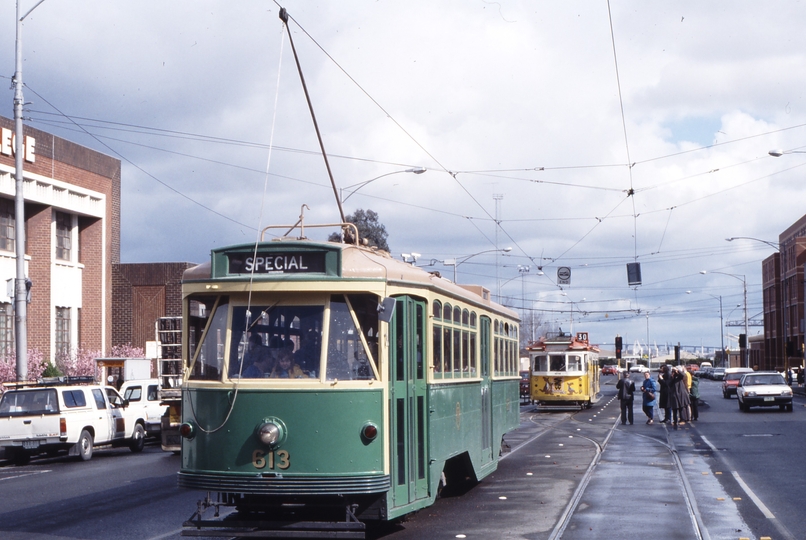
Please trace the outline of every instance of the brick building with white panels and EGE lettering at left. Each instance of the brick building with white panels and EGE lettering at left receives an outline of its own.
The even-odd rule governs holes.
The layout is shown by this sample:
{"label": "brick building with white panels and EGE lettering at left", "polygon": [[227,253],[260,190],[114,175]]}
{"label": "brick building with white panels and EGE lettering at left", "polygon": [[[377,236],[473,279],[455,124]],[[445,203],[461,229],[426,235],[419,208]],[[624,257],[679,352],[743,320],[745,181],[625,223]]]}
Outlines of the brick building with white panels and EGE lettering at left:
{"label": "brick building with white panels and EGE lettering at left", "polygon": [[[14,122],[0,117],[0,279],[16,277]],[[112,267],[120,261],[120,161],[25,127],[28,348],[53,361],[112,343]],[[14,348],[13,298],[0,293],[0,354]]]}

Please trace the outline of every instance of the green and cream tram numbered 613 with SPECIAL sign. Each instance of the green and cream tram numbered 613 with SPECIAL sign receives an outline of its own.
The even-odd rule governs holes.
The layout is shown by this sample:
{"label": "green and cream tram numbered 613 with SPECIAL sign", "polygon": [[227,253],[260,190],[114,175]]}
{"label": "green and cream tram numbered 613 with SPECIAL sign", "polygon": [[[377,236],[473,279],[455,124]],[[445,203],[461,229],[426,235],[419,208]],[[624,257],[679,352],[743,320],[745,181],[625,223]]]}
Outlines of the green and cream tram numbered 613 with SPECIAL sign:
{"label": "green and cream tram numbered 613 with SPECIAL sign", "polygon": [[182,295],[179,485],[208,492],[183,535],[361,538],[493,472],[519,425],[517,314],[483,287],[283,238],[213,250]]}

